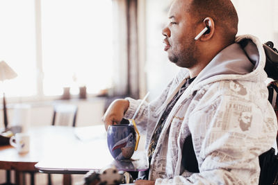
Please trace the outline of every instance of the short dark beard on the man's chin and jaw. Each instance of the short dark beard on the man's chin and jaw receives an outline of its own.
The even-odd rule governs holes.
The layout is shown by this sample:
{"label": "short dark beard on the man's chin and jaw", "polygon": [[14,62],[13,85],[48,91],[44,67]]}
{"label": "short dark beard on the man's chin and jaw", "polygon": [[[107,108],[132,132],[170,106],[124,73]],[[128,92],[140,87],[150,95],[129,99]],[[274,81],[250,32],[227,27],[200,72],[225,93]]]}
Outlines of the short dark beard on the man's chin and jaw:
{"label": "short dark beard on the man's chin and jaw", "polygon": [[191,68],[195,66],[197,64],[195,56],[198,55],[195,43],[195,40],[193,40],[182,45],[179,44],[178,46],[171,47],[168,53],[169,60],[178,67]]}

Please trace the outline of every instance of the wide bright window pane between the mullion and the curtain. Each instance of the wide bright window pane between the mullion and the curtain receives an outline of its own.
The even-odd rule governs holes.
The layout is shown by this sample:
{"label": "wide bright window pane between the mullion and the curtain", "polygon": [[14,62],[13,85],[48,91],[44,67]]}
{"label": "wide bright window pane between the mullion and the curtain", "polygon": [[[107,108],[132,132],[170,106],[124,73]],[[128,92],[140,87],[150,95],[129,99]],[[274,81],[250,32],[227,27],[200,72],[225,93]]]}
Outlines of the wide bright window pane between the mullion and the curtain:
{"label": "wide bright window pane between the mullion and the curtain", "polygon": [[42,0],[44,94],[97,93],[111,85],[112,1]]}

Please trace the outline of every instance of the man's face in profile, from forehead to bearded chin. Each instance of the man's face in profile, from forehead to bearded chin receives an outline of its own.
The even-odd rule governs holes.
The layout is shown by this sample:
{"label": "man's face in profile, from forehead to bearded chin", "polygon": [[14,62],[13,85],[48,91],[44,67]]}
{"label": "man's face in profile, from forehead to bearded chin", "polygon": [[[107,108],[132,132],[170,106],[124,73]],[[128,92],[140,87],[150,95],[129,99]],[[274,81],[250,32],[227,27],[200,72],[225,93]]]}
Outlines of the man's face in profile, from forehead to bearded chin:
{"label": "man's face in profile, from forehead to bearded chin", "polygon": [[191,68],[197,64],[193,19],[186,12],[190,0],[176,0],[169,11],[169,24],[163,29],[165,51],[179,67]]}

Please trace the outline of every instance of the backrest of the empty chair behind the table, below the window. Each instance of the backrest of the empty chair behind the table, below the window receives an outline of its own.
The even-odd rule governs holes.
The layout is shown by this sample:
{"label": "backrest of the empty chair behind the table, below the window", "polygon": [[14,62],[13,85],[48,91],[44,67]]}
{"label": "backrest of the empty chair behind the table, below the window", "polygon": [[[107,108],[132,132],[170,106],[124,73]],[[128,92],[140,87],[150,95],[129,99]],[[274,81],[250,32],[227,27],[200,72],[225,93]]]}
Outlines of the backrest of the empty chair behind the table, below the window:
{"label": "backrest of the empty chair behind the table, below the window", "polygon": [[60,103],[54,105],[52,125],[75,127],[77,105]]}

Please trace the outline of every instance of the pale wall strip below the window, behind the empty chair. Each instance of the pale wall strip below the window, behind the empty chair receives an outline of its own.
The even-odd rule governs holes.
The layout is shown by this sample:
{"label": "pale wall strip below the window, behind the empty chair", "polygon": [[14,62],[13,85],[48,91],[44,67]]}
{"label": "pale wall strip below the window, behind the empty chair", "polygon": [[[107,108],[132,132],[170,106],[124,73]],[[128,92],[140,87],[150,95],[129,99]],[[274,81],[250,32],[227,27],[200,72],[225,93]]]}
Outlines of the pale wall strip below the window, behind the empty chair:
{"label": "pale wall strip below the window, behind the empty chair", "polygon": [[[54,100],[42,103],[22,103],[8,105],[8,121],[10,125],[13,125],[17,116],[15,115],[16,107],[29,107],[25,109],[24,113],[28,114],[23,118],[24,123],[28,123],[29,126],[42,126],[51,125],[54,104],[57,103],[71,103],[78,106],[78,112],[76,117],[76,127],[97,125],[101,124],[101,117],[104,114],[105,98],[88,98],[88,100]],[[22,119],[22,118],[21,118]],[[3,112],[0,110],[0,128],[3,127]]]}

